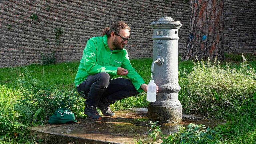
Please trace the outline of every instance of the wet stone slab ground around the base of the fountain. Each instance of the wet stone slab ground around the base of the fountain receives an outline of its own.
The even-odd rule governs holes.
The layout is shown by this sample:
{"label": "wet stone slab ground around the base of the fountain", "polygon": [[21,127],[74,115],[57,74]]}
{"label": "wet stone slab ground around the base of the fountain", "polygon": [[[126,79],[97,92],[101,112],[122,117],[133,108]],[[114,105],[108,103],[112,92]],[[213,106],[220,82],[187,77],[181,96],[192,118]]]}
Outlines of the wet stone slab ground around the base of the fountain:
{"label": "wet stone slab ground around the base of the fountain", "polygon": [[[78,123],[64,125],[49,125],[30,127],[31,134],[37,134],[37,139],[42,139],[44,143],[133,143],[135,139],[147,137],[150,129],[147,119],[147,109],[131,109],[128,111],[115,112],[114,117],[103,117],[101,121],[90,121],[86,119],[76,119]],[[186,127],[189,123],[204,124],[206,127],[214,127],[223,123],[214,120],[202,119],[198,116],[183,115],[180,123],[161,124],[164,134],[177,131],[177,127]],[[191,121],[188,119],[197,119]],[[202,120],[199,120],[202,119]],[[160,125],[160,124],[159,124]]]}

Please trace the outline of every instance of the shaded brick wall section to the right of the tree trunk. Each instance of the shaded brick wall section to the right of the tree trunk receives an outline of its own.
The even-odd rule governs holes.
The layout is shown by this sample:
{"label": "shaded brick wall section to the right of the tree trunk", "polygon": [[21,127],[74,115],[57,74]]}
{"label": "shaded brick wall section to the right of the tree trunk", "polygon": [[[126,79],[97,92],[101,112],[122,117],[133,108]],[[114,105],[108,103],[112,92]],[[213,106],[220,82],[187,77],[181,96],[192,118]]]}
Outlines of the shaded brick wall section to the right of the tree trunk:
{"label": "shaded brick wall section to the right of the tree trunk", "polygon": [[256,2],[225,0],[224,46],[227,53],[256,50]]}

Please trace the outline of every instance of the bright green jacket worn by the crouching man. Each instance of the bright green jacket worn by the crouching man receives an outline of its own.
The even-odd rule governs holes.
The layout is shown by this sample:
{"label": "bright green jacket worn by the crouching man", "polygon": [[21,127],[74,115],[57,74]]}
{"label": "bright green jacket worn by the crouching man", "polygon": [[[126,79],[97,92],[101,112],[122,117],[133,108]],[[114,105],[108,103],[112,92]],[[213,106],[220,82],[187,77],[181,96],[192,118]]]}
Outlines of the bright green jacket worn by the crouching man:
{"label": "bright green jacket worn by the crouching man", "polygon": [[82,83],[88,75],[107,72],[112,79],[117,75],[117,67],[128,70],[126,75],[138,92],[143,91],[140,86],[145,83],[132,67],[128,52],[125,49],[111,51],[107,44],[107,35],[93,37],[87,41],[83,57],[76,73],[75,85]]}

